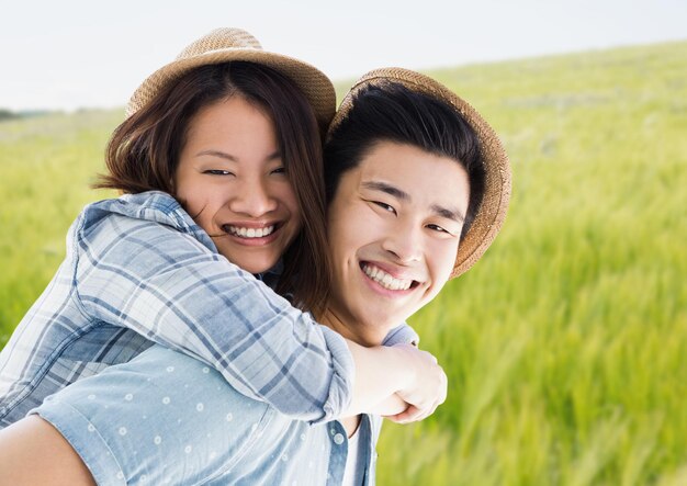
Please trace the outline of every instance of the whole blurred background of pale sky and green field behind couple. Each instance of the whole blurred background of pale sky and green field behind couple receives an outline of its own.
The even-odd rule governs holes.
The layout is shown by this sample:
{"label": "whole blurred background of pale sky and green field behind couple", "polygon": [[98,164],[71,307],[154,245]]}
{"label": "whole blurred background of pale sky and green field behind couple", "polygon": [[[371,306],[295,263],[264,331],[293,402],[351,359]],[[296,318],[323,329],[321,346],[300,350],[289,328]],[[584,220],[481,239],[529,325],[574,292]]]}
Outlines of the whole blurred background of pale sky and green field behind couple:
{"label": "whole blurred background of pale sky and green field behind couple", "polygon": [[448,402],[385,425],[382,485],[687,484],[687,3],[0,2],[0,348],[59,265],[138,83],[240,26],[339,99],[417,68],[496,128],[514,196],[412,324]]}

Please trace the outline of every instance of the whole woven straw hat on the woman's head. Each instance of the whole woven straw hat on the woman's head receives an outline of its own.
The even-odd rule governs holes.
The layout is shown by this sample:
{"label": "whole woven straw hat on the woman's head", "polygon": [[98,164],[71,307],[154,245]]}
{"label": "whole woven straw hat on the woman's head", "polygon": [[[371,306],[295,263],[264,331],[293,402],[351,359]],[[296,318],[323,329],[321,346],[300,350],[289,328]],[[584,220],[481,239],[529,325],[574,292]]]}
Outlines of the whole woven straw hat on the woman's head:
{"label": "whole woven straw hat on the woman's head", "polygon": [[331,81],[319,69],[302,60],[262,49],[256,37],[241,29],[215,29],[191,43],[177,58],[161,67],[138,87],[126,106],[131,116],[168,83],[193,68],[230,60],[245,60],[268,66],[290,78],[311,102],[320,127],[326,127],[336,110]]}

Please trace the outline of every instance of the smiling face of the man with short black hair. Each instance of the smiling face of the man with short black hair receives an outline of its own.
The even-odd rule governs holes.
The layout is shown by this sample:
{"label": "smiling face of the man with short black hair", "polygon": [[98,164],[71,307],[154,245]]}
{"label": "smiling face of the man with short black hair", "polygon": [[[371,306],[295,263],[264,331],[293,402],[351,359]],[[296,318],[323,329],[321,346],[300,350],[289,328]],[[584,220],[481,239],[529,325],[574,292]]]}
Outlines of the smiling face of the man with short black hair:
{"label": "smiling face of the man with short black hair", "polygon": [[468,211],[468,173],[410,145],[376,144],[329,204],[331,312],[349,337],[379,344],[449,279]]}

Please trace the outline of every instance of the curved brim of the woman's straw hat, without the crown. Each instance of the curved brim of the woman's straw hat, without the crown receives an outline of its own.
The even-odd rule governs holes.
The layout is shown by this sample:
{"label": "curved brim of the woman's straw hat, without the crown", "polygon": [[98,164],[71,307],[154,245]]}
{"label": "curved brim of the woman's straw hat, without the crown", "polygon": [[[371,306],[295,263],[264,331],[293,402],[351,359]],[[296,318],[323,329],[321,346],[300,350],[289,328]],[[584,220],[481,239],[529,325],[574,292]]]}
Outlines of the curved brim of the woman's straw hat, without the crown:
{"label": "curved brim of the woman's straw hat, without the crown", "polygon": [[145,106],[162,88],[191,69],[238,60],[270,67],[290,78],[309,101],[323,131],[329,125],[336,110],[336,92],[324,72],[293,57],[245,47],[210,50],[161,67],[136,89],[126,106],[126,116]]}

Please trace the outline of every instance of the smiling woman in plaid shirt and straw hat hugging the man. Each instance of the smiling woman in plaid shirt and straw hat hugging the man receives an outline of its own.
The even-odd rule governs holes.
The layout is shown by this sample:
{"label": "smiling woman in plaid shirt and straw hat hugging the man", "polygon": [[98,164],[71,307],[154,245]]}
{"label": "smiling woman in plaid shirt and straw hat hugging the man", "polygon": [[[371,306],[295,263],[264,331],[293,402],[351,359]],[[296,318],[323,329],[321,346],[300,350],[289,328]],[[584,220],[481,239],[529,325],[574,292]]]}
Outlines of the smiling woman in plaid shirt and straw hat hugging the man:
{"label": "smiling woman in plaid shirt and straw hat hugging the man", "polygon": [[318,127],[333,112],[322,72],[236,29],[213,31],[146,79],[100,184],[125,195],[81,213],[65,262],[0,354],[0,423],[153,342],[294,418],[327,420],[351,395],[364,408],[368,396],[404,389],[419,406],[407,415],[430,412],[443,385],[404,372],[376,383],[361,373],[357,389],[372,392],[352,392],[354,365],[408,355],[405,374],[441,382],[425,354],[347,343],[249,273],[296,305],[326,302]]}

